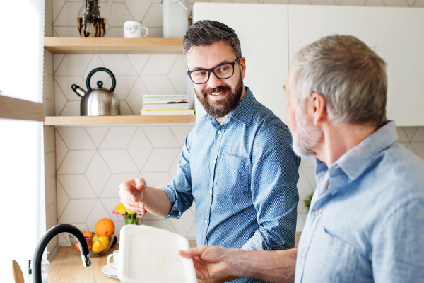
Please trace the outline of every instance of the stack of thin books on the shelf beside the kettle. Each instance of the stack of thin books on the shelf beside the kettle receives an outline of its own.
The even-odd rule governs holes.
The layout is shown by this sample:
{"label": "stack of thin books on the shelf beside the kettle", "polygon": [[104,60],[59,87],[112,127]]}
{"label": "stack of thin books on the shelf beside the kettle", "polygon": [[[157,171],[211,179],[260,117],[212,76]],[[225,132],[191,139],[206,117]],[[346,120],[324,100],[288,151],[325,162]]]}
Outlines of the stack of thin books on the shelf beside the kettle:
{"label": "stack of thin books on the shelf beside the kettle", "polygon": [[189,109],[189,96],[145,95],[141,115],[194,115],[194,110]]}

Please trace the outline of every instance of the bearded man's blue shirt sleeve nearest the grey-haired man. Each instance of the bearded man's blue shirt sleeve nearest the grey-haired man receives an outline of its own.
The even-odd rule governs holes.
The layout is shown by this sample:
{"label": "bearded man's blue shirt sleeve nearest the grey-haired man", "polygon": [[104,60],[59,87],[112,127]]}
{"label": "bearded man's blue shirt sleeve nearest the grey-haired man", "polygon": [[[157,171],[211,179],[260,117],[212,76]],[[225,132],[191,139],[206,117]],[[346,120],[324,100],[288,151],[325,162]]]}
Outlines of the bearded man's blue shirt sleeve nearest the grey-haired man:
{"label": "bearded man's blue shirt sleeve nearest the grey-haired man", "polygon": [[252,150],[252,201],[259,229],[242,250],[283,250],[295,246],[300,158],[288,129],[259,129]]}

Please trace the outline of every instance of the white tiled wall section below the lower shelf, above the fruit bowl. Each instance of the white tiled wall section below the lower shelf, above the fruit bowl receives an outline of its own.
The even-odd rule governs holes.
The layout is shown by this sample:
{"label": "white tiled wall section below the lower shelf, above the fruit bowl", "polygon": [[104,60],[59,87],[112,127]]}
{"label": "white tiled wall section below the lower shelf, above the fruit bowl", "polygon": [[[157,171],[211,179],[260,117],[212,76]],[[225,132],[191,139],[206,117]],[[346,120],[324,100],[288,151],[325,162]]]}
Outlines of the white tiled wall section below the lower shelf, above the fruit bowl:
{"label": "white tiled wall section below the lower shelf, above the fruit bowl", "polygon": [[[57,170],[58,223],[83,224],[86,229],[94,229],[98,219],[109,217],[120,229],[124,219],[112,214],[120,203],[119,184],[141,176],[152,187],[168,183],[169,171],[175,171],[171,167],[179,160],[182,137],[193,126],[57,127],[57,156],[64,156]],[[76,137],[81,137],[85,146],[76,149]],[[194,213],[190,210],[178,221],[146,216],[145,224],[194,238],[193,233],[189,234],[193,222]],[[69,245],[67,236],[59,237],[59,243]]]}

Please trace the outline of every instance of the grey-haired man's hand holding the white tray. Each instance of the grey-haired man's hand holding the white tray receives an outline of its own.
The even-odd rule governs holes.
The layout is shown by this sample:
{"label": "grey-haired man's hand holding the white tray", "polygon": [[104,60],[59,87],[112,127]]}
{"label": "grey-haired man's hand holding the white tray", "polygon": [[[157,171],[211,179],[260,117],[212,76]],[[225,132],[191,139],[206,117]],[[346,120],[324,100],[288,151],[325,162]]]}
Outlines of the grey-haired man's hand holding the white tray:
{"label": "grey-haired man's hand holding the white tray", "polygon": [[229,275],[231,250],[220,246],[200,246],[190,250],[179,250],[183,258],[193,258],[196,276],[201,280],[219,279]]}

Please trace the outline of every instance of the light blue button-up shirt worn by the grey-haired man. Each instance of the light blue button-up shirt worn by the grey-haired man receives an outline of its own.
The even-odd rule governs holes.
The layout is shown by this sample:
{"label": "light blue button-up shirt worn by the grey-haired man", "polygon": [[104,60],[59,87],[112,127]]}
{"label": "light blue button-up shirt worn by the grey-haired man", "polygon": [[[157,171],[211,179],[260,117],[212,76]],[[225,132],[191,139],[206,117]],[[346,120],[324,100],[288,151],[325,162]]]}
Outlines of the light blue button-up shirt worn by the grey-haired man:
{"label": "light blue button-up shirt worn by the grey-haired man", "polygon": [[424,161],[389,122],[330,168],[300,237],[295,282],[423,282]]}

